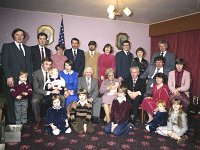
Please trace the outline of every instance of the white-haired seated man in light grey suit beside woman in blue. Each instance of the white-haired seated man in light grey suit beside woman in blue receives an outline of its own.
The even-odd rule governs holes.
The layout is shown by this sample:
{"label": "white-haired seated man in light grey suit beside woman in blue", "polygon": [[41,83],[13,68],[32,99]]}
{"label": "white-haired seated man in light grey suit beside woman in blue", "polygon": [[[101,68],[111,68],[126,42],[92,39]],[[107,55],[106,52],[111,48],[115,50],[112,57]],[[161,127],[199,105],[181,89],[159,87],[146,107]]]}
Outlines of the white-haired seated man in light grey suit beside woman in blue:
{"label": "white-haired seated man in light grey suit beside woman in blue", "polygon": [[93,104],[92,106],[92,121],[93,123],[100,122],[100,110],[102,99],[98,97],[99,88],[98,80],[93,78],[94,71],[92,67],[86,67],[84,70],[84,77],[78,79],[78,89],[86,89],[89,94],[89,98]]}

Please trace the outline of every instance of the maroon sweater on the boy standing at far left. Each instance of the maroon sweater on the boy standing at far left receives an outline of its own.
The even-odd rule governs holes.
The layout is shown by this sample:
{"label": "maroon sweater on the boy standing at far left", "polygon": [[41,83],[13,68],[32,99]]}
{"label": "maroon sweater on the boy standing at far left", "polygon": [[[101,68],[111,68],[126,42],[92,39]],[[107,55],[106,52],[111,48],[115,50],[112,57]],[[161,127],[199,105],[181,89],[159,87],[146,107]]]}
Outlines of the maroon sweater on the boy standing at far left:
{"label": "maroon sweater on the boy standing at far left", "polygon": [[[21,93],[22,92],[27,92],[28,95],[27,96],[24,96],[22,95]],[[21,83],[19,84],[18,82],[16,84],[14,84],[14,86],[10,89],[10,94],[13,96],[13,97],[17,97],[18,95],[21,95],[22,96],[22,99],[27,99],[31,94],[32,94],[32,87],[29,83]]]}

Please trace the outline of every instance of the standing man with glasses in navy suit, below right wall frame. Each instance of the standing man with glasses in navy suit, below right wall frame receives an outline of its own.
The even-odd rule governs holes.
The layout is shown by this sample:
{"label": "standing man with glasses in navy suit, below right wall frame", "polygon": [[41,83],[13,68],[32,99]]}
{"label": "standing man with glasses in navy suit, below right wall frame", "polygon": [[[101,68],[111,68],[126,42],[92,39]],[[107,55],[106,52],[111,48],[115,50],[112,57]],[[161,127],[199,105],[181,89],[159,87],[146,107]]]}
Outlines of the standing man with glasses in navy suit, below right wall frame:
{"label": "standing man with glasses in navy suit, below right wall frame", "polygon": [[130,52],[130,42],[125,40],[122,42],[123,50],[117,52],[115,56],[116,62],[116,76],[121,82],[130,77],[131,61],[133,59],[133,54]]}

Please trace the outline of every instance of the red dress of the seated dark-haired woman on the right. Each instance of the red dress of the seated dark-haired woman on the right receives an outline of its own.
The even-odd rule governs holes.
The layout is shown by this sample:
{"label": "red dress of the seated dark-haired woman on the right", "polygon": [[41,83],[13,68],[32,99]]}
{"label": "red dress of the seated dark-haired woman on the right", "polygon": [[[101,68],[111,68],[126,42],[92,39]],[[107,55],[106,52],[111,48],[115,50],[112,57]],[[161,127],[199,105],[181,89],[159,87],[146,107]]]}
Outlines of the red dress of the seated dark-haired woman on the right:
{"label": "red dress of the seated dark-haired woman on the right", "polygon": [[153,85],[152,88],[152,98],[144,98],[142,101],[142,109],[148,112],[149,114],[152,114],[152,111],[156,108],[156,102],[158,100],[164,100],[167,103],[168,106],[168,100],[169,100],[169,88],[167,85],[163,84],[162,87],[157,89],[156,84]]}

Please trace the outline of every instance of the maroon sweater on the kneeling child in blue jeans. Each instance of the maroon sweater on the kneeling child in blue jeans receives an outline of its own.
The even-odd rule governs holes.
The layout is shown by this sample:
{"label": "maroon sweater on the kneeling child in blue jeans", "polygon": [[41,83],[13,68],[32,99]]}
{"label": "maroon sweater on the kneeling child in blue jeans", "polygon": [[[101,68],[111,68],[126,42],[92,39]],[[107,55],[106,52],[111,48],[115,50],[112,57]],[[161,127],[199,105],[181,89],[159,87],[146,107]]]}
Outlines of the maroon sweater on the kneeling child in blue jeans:
{"label": "maroon sweater on the kneeling child in blue jeans", "polygon": [[115,124],[120,124],[127,121],[130,117],[131,103],[126,100],[121,103],[114,99],[111,107],[110,121]]}

